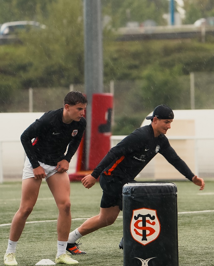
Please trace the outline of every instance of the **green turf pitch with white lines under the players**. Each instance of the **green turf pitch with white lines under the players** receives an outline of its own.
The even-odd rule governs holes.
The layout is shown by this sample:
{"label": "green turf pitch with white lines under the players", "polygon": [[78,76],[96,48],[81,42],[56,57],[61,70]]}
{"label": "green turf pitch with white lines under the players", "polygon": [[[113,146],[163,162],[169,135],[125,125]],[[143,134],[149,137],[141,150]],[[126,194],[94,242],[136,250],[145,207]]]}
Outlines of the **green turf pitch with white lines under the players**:
{"label": "green turf pitch with white lines under the players", "polygon": [[[214,182],[206,182],[203,191],[189,181],[175,183],[178,187],[179,266],[214,265]],[[101,194],[99,183],[90,189],[85,189],[81,182],[71,183],[72,230],[85,218],[99,213]],[[0,265],[3,265],[10,223],[19,208],[20,196],[21,183],[0,185]],[[211,212],[203,212],[205,210]],[[27,220],[31,223],[26,223],[17,245],[19,266],[35,265],[44,258],[55,261],[57,215],[52,194],[46,182],[42,182],[38,201]],[[121,212],[113,225],[83,237],[81,249],[87,254],[73,256],[79,261],[78,265],[123,265],[123,251],[118,247],[122,231]]]}

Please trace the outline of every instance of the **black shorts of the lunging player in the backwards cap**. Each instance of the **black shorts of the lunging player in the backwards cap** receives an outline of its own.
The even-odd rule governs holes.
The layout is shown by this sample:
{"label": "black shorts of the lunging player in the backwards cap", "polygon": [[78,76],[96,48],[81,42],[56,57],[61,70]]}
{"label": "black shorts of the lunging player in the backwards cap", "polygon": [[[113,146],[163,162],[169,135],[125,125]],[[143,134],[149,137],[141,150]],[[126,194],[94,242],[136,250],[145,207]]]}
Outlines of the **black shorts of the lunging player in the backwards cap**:
{"label": "black shorts of the lunging player in the backwards cap", "polygon": [[131,182],[133,179],[121,179],[117,176],[106,176],[104,174],[100,175],[99,183],[100,187],[103,189],[103,196],[101,198],[100,207],[109,208],[114,206],[119,206],[122,211],[122,193],[123,186],[127,182]]}

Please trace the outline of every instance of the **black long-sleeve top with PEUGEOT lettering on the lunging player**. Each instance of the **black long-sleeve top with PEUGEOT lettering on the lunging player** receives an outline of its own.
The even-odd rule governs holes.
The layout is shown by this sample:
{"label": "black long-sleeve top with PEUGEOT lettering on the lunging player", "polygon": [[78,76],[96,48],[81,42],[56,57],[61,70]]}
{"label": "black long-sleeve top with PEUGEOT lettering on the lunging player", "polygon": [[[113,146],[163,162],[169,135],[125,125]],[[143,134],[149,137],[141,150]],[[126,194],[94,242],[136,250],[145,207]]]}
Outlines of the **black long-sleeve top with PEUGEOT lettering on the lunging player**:
{"label": "black long-sleeve top with PEUGEOT lettering on the lunging player", "polygon": [[192,180],[194,174],[190,168],[176,154],[164,134],[154,136],[151,124],[134,130],[111,148],[94,169],[92,176],[98,178],[104,173],[106,176],[134,179],[157,153],[162,154],[181,174]]}

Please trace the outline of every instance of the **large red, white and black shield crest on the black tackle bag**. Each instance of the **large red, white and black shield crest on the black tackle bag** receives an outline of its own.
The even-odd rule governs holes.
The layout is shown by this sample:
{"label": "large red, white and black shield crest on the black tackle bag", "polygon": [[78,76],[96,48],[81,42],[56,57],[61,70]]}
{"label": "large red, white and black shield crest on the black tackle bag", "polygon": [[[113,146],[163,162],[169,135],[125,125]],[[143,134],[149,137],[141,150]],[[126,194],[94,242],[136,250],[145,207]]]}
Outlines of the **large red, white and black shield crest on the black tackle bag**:
{"label": "large red, white and black shield crest on the black tackle bag", "polygon": [[144,246],[154,241],[160,234],[157,211],[147,208],[133,210],[130,231],[132,238]]}

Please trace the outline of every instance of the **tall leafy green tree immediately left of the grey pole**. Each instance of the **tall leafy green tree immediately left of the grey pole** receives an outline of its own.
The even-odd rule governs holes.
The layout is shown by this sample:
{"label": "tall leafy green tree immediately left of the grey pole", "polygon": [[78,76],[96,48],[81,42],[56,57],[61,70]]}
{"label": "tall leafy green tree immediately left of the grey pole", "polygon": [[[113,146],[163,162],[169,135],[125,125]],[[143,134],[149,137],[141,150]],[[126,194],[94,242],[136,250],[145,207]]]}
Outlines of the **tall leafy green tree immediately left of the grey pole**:
{"label": "tall leafy green tree immediately left of the grey pole", "polygon": [[31,38],[23,36],[26,55],[34,60],[24,86],[69,86],[83,82],[81,2],[58,0],[47,12],[48,19],[43,19],[46,29],[35,32]]}

